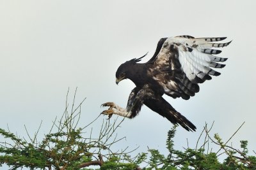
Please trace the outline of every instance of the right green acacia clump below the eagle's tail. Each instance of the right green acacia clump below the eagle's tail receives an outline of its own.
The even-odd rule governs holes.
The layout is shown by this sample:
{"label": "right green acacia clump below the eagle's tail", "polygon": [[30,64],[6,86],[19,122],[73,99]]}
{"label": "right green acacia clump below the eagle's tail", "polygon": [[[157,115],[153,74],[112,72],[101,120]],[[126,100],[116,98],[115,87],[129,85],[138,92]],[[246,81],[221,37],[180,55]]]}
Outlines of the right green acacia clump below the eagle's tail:
{"label": "right green acacia clump below the eagle's tail", "polygon": [[[256,157],[248,155],[248,141],[240,141],[240,149],[229,146],[227,145],[228,141],[234,137],[237,131],[224,143],[218,134],[214,134],[214,137],[209,135],[212,125],[208,129],[207,124],[205,124],[195,148],[187,146],[184,150],[175,150],[174,148],[173,137],[176,132],[176,126],[174,126],[168,131],[166,140],[166,148],[169,154],[164,156],[158,150],[148,149],[150,158],[149,160],[146,158],[145,162],[148,162],[149,166],[144,169],[256,169]],[[213,152],[210,143],[218,146],[219,150]],[[226,155],[226,158],[223,162],[220,162],[220,155],[223,154]]]}

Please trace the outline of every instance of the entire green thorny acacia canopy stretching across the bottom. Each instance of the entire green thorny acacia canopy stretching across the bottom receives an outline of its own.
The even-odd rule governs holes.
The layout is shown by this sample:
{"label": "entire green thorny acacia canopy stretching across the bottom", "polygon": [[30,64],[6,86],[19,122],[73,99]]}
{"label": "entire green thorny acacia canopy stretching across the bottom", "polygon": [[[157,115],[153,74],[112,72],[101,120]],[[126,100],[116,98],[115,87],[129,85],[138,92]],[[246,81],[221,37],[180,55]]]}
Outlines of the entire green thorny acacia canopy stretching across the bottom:
{"label": "entire green thorny acacia canopy stretching across the bottom", "polygon": [[[124,119],[103,120],[98,137],[93,138],[92,129],[88,130],[88,127],[100,115],[85,127],[77,127],[84,100],[75,107],[75,98],[76,92],[71,106],[66,99],[62,117],[54,120],[51,131],[41,141],[38,139],[40,127],[33,136],[27,131],[28,139],[0,129],[0,136],[5,138],[0,141],[0,166],[6,164],[10,169],[256,169],[256,157],[248,155],[248,141],[241,141],[241,149],[227,145],[243,124],[226,143],[218,134],[209,135],[213,124],[209,129],[205,125],[195,148],[188,146],[184,150],[174,148],[174,126],[167,135],[168,155],[148,148],[147,153],[132,157],[132,151],[128,152],[127,148],[117,152],[112,150],[115,143],[124,139],[116,136],[116,129]],[[212,152],[210,143],[219,146],[220,150]],[[219,157],[223,154],[226,159],[220,162]]]}

